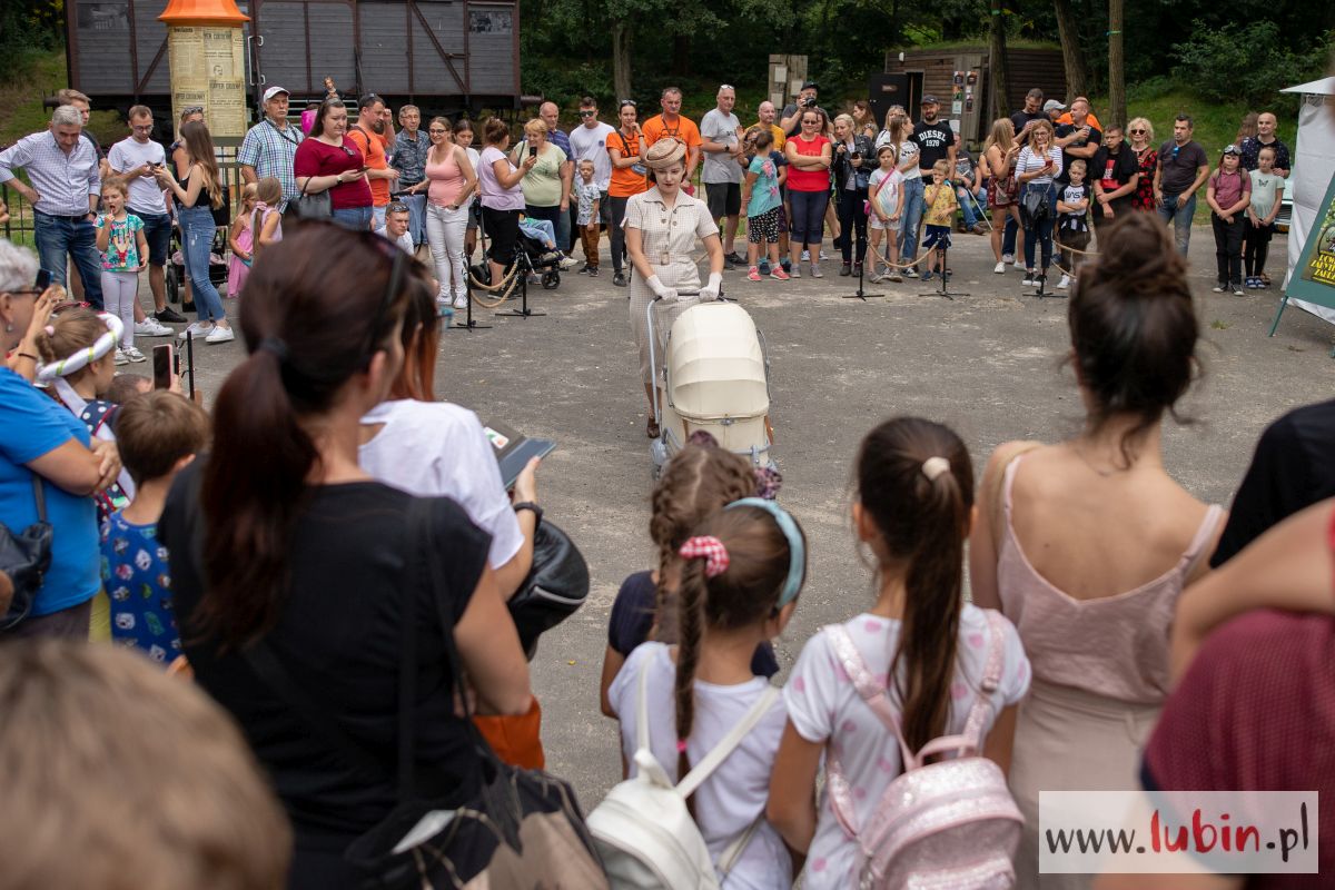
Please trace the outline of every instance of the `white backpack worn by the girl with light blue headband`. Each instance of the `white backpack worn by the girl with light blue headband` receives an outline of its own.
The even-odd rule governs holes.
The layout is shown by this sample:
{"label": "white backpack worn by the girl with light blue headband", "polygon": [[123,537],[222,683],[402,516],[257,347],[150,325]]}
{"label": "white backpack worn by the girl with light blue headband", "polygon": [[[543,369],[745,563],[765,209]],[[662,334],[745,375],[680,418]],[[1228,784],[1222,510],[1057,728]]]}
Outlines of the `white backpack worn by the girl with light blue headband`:
{"label": "white backpack worn by the girl with light blue headband", "polygon": [[635,778],[621,782],[589,814],[589,831],[613,890],[717,890],[765,814],[718,857],[716,869],[686,798],[741,745],[778,698],[770,686],[726,737],[676,787],[649,749],[649,659],[639,670]]}

